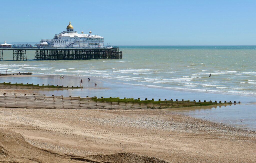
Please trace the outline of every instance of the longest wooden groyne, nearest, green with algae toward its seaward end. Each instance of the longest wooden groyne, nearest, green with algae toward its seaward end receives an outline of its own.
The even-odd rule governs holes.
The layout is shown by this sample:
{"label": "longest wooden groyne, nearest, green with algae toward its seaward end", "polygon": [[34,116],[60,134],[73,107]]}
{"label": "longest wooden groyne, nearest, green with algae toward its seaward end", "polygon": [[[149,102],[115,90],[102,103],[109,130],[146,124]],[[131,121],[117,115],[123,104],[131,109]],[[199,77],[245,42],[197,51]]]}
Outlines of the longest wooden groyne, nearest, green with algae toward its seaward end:
{"label": "longest wooden groyne, nearest, green with algae toward its seaward end", "polygon": [[[46,95],[0,95],[0,108],[36,108],[36,109],[163,109],[192,106],[226,105],[232,102],[221,101],[159,101],[133,98],[97,98],[97,97],[63,97]],[[236,102],[234,102],[236,103]],[[239,102],[240,103],[240,102]]]}

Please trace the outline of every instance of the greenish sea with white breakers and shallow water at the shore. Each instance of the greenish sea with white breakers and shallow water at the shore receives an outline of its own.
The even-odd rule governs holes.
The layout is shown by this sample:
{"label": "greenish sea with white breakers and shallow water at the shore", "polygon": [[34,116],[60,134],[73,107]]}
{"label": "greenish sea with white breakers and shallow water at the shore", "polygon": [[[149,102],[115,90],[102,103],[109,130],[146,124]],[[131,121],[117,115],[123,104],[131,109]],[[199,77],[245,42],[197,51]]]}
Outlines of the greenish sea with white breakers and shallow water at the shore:
{"label": "greenish sea with white breakers and shallow water at the shore", "polygon": [[[225,107],[229,109],[224,113],[224,106],[180,112],[256,131],[256,46],[119,46],[119,49],[123,52],[122,59],[60,61],[36,61],[34,51],[27,51],[26,61],[13,61],[13,51],[4,51],[0,73],[62,75],[64,80],[32,76],[29,81],[19,77],[18,82],[62,85],[69,82],[74,86],[78,86],[80,78],[86,81],[90,78],[91,83],[86,86],[93,87],[97,82],[97,86],[104,88],[60,92],[65,95],[241,101],[241,105]],[[0,78],[3,81],[17,82],[17,78]],[[227,118],[223,114],[232,116]],[[233,123],[241,119],[242,124]],[[245,124],[243,121],[247,119]]]}

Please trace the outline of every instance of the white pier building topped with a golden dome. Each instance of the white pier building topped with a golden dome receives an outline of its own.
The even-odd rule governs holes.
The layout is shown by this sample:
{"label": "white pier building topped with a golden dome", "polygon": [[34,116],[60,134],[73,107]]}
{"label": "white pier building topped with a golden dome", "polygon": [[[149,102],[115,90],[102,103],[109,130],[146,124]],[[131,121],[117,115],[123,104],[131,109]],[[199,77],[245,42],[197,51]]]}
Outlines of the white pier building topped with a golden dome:
{"label": "white pier building topped with a golden dome", "polygon": [[56,34],[53,39],[41,40],[37,47],[84,47],[95,48],[104,46],[104,37],[99,35],[77,33],[74,31],[71,22],[67,26],[66,31]]}

